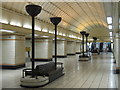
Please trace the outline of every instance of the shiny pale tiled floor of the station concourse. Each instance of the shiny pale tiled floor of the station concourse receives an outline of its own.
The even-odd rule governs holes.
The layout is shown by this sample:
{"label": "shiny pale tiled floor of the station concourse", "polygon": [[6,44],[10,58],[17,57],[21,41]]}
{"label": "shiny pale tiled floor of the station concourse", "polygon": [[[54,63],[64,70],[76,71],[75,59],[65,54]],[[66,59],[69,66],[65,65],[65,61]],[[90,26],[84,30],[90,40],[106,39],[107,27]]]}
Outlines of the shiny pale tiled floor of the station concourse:
{"label": "shiny pale tiled floor of the station concourse", "polygon": [[[112,73],[114,58],[112,53],[92,55],[90,61],[78,61],[79,55],[59,58],[64,63],[65,75],[43,88],[117,88],[118,76]],[[45,62],[36,62],[42,64]],[[30,62],[26,63],[30,66]],[[23,69],[23,68],[22,68]],[[3,88],[21,88],[22,69],[2,70]]]}

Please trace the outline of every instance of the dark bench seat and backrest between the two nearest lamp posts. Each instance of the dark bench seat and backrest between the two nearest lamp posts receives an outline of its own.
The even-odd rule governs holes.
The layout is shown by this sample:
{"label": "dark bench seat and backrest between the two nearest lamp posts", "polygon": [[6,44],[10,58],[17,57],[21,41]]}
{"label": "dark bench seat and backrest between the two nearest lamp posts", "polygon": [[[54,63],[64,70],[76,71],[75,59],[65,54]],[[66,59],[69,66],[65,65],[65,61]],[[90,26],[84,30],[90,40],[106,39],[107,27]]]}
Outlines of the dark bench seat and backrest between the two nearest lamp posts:
{"label": "dark bench seat and backrest between the two nearest lamp posts", "polygon": [[[60,66],[58,66],[60,65]],[[49,62],[46,64],[37,65],[36,68],[33,71],[36,79],[38,76],[47,76],[49,79],[49,82],[54,81],[55,79],[59,78],[60,76],[64,75],[63,73],[63,63],[58,62],[57,63],[57,69],[55,69],[55,63]],[[23,70],[23,78],[25,76],[32,75],[31,69],[24,69]]]}

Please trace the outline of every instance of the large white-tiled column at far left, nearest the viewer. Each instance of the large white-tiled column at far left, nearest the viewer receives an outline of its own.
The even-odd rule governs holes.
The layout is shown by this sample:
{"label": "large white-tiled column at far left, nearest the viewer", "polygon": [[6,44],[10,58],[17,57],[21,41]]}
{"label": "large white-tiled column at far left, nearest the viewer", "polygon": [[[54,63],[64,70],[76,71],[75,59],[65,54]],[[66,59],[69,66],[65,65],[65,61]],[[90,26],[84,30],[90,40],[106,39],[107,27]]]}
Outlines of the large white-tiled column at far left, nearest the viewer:
{"label": "large white-tiled column at far left, nearest the viewer", "polygon": [[2,37],[2,68],[17,69],[25,66],[25,37],[5,35]]}

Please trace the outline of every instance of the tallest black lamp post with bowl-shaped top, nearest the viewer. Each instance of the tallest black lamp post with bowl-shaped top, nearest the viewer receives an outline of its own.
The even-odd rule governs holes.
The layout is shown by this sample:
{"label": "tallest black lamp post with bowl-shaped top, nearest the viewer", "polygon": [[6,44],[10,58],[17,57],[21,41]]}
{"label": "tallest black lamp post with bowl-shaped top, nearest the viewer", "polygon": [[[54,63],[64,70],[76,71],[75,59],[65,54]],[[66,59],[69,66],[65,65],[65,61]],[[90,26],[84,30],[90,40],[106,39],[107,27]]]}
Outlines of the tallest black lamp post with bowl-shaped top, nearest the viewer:
{"label": "tallest black lamp post with bowl-shaped top, nearest the viewer", "polygon": [[41,12],[41,6],[38,5],[27,5],[26,11],[32,17],[32,77],[34,77],[34,58],[35,58],[35,50],[34,50],[34,25],[35,25],[35,16],[37,16]]}

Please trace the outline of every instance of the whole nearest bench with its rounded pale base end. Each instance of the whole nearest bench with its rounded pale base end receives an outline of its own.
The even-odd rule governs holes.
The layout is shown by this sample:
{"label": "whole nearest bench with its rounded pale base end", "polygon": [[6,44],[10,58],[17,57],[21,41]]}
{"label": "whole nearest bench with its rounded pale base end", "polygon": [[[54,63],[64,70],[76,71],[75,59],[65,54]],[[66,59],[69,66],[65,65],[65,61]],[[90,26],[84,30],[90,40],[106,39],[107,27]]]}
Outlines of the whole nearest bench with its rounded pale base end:
{"label": "whole nearest bench with its rounded pale base end", "polygon": [[[23,77],[21,79],[21,86],[24,87],[40,87],[40,86],[44,86],[54,80],[56,80],[57,78],[61,77],[64,75],[63,72],[63,63],[58,62],[57,65],[57,69],[55,69],[55,63],[54,62],[49,62],[46,64],[42,64],[42,65],[37,65],[36,68],[34,69],[33,73],[34,73],[34,80],[35,82],[37,82],[37,85],[32,85],[32,83],[34,84],[34,81],[31,81],[31,78],[28,78],[27,76],[32,76],[32,69],[28,68],[28,69],[24,69],[23,70]],[[47,77],[47,82],[45,82],[44,84],[42,84],[41,79],[39,79],[40,77]],[[33,79],[33,78],[32,78]],[[39,81],[38,81],[38,80]],[[26,82],[28,81],[28,83],[26,84]],[[29,84],[30,82],[30,84]],[[41,83],[40,83],[41,82]],[[39,83],[41,85],[39,85]]]}

